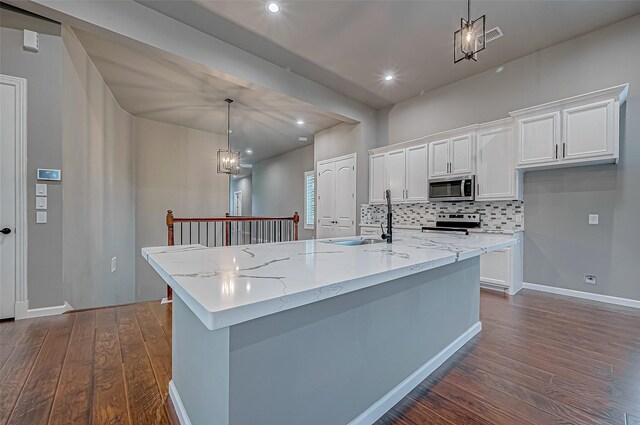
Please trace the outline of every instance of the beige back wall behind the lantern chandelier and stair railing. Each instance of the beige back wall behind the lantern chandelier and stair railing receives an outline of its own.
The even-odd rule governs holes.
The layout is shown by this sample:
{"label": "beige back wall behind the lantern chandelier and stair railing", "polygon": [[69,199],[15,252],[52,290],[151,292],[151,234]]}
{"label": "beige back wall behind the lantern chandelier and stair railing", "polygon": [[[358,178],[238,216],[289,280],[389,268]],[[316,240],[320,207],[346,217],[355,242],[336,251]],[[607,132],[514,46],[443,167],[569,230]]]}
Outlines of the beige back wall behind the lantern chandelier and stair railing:
{"label": "beige back wall behind the lantern chandelier and stair railing", "polygon": [[[216,171],[226,136],[136,117],[136,300],[160,299],[166,285],[139,255],[167,244],[167,210],[176,217],[224,217],[229,177]],[[177,242],[178,243],[178,242]]]}

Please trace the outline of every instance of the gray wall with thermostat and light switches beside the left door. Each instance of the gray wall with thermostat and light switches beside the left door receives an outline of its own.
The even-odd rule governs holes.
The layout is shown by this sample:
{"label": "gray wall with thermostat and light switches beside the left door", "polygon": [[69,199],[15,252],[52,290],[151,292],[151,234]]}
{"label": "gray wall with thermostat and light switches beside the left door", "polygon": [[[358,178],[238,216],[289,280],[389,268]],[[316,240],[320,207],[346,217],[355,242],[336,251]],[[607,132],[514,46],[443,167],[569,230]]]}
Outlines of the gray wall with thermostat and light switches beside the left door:
{"label": "gray wall with thermostat and light switches beside the left door", "polygon": [[[62,39],[60,25],[0,10],[0,73],[27,79],[27,285],[30,308],[61,305],[62,185]],[[23,29],[40,32],[40,51],[23,50]],[[47,72],[42,72],[46,70]],[[48,222],[36,224],[37,168],[63,169],[62,183],[49,183]]]}

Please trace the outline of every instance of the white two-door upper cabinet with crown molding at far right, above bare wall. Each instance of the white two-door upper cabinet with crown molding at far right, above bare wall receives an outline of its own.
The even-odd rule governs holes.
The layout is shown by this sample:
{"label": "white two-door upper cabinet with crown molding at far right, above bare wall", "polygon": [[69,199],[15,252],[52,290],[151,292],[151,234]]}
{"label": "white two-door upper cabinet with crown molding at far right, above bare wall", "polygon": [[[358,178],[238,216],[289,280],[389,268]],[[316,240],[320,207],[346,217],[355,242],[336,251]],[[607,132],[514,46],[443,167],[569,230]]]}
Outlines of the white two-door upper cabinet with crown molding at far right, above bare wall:
{"label": "white two-door upper cabinet with crown molding at far right, above bare wall", "polygon": [[512,112],[517,168],[617,163],[620,104],[628,85]]}

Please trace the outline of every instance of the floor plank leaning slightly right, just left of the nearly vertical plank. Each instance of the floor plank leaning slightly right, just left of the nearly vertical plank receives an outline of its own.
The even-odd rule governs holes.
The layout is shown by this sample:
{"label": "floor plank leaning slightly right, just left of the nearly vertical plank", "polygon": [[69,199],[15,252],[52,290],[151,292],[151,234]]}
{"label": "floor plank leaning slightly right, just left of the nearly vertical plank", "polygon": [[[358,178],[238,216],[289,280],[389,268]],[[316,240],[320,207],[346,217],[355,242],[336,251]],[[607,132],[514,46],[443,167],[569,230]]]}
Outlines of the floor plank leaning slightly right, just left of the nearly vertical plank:
{"label": "floor plank leaning slightly right, just left of the nearly vertical plank", "polygon": [[69,341],[60,382],[56,391],[50,424],[87,424],[93,398],[93,359],[96,312],[77,313]]}

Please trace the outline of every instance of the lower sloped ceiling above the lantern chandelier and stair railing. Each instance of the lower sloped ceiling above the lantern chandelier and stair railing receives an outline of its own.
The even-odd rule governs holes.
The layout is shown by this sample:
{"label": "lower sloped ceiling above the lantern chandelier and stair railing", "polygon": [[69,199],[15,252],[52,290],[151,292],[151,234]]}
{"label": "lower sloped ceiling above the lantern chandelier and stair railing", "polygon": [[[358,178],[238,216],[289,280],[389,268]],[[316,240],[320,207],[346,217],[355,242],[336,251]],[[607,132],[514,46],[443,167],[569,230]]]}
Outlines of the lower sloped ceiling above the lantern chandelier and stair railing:
{"label": "lower sloped ceiling above the lantern chandelier and stair railing", "polygon": [[243,164],[306,146],[317,131],[343,122],[297,99],[215,77],[183,58],[74,32],[120,106],[132,115],[226,135],[225,99],[233,99],[231,147],[241,152]]}

